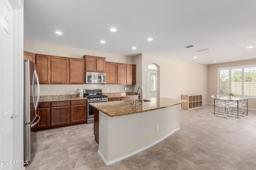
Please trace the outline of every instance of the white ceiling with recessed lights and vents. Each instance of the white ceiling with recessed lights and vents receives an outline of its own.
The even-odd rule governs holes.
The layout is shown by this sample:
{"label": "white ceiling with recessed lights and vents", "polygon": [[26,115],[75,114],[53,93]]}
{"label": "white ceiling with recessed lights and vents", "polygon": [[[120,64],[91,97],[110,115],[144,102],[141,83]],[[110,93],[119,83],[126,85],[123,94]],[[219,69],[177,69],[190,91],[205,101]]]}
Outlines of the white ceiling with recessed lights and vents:
{"label": "white ceiling with recessed lights and vents", "polygon": [[[24,3],[24,41],[127,56],[146,53],[202,64],[256,58],[256,0]],[[117,31],[111,32],[111,27]],[[56,35],[55,31],[63,34]],[[147,41],[149,37],[153,41]],[[101,40],[106,43],[101,44]],[[188,45],[195,47],[185,48]],[[131,49],[134,46],[137,49]],[[210,50],[197,52],[205,48]]]}

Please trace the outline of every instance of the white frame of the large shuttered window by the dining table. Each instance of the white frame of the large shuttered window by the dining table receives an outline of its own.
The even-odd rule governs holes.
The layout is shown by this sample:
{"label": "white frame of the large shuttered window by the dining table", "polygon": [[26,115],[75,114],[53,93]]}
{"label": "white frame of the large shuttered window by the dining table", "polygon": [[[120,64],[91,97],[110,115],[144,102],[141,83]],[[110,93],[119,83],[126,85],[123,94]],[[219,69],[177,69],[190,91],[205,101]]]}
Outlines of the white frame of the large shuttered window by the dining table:
{"label": "white frame of the large shuttered window by the dining table", "polygon": [[241,95],[236,95],[236,96],[242,96],[242,97],[247,97],[247,98],[256,98],[256,95],[244,95],[244,69],[245,68],[252,68],[255,67],[256,68],[256,64],[252,64],[252,65],[244,65],[244,66],[232,66],[232,67],[222,67],[222,68],[218,68],[218,81],[217,81],[217,88],[218,88],[218,92],[217,94],[220,96],[226,96],[226,94],[220,94],[220,70],[229,70],[229,80],[228,80],[228,91],[229,93],[231,92],[231,82],[232,82],[232,73],[231,70],[232,69],[242,69],[242,88],[241,88]]}

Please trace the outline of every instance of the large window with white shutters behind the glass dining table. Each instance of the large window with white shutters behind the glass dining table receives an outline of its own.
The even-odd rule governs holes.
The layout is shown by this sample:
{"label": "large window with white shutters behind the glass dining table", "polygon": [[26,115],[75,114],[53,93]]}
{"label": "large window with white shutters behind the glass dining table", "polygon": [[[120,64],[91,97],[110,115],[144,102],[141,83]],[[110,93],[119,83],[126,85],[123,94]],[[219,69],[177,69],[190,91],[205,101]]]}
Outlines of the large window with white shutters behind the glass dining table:
{"label": "large window with white shutters behind the glass dining table", "polygon": [[218,68],[218,94],[256,98],[256,65]]}

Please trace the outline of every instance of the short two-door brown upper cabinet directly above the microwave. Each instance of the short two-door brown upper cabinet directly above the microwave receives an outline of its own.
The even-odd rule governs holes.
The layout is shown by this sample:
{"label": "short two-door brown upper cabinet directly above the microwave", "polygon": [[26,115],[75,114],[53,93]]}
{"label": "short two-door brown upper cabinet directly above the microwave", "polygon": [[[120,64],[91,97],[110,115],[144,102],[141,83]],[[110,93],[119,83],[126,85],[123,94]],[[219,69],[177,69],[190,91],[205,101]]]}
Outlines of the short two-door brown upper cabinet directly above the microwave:
{"label": "short two-door brown upper cabinet directly above the microwave", "polygon": [[88,72],[106,72],[106,58],[84,55],[85,71]]}

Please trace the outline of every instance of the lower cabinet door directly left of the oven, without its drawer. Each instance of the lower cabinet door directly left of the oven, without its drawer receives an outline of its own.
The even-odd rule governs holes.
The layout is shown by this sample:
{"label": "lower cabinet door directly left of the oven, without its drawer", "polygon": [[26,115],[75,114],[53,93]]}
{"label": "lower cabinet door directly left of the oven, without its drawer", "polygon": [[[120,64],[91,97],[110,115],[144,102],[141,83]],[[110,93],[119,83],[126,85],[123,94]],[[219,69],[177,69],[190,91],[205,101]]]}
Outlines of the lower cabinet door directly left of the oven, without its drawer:
{"label": "lower cabinet door directly left of the oven, without its drawer", "polygon": [[86,104],[71,106],[71,123],[86,122]]}

